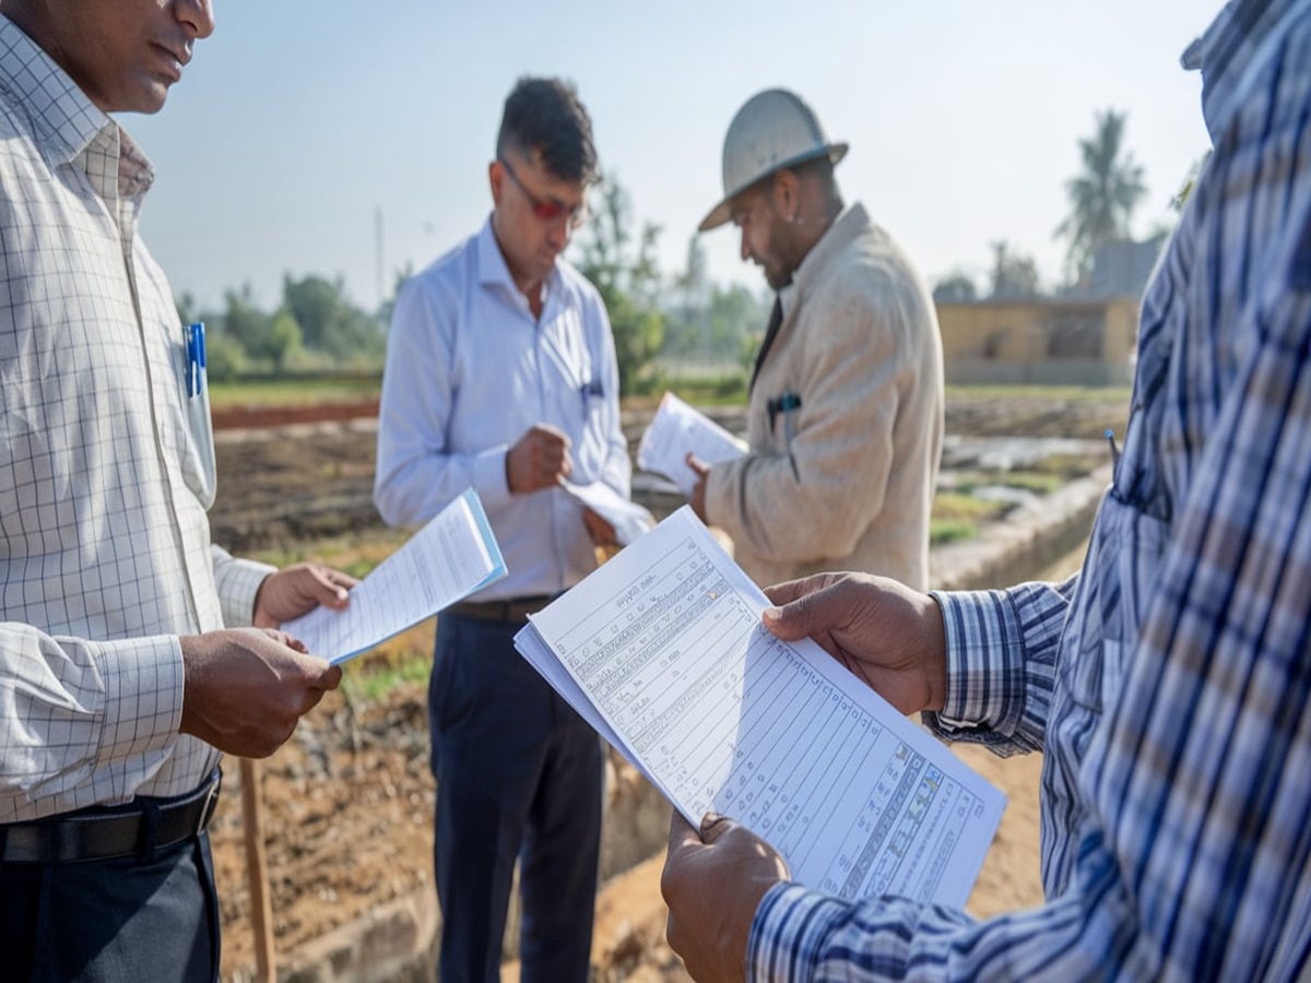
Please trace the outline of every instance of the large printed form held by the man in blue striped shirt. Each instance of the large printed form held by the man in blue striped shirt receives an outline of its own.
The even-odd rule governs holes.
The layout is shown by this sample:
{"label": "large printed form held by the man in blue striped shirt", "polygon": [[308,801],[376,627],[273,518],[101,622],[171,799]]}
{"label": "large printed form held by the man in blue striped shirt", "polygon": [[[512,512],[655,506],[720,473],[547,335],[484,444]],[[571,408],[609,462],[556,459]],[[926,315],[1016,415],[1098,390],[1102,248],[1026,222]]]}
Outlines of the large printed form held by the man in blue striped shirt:
{"label": "large printed form held by the man in blue striped shirt", "polygon": [[964,904],[1006,798],[768,604],[683,507],[532,615],[530,663],[694,826],[728,815],[840,898]]}

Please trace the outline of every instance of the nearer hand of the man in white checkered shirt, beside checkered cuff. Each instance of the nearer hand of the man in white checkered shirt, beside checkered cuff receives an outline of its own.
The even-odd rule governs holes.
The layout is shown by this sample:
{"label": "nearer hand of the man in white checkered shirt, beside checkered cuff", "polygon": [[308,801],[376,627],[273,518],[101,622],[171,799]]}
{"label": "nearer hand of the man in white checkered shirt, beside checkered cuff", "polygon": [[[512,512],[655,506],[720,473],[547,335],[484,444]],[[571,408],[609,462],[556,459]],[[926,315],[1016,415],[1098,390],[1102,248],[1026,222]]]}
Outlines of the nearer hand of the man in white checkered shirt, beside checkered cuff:
{"label": "nearer hand of the man in white checkered shirt, beside checkered cuff", "polygon": [[184,636],[182,733],[243,758],[277,751],[341,667],[305,654],[283,632],[231,628]]}

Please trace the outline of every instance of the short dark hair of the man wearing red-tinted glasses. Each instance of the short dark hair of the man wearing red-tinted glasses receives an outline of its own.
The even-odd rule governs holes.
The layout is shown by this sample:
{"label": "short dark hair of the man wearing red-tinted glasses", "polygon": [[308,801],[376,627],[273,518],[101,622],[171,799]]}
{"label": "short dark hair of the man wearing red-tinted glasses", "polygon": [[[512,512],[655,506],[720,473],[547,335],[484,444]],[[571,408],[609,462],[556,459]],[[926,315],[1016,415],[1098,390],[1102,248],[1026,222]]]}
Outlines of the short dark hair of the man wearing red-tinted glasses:
{"label": "short dark hair of the man wearing red-tinted glasses", "polygon": [[597,180],[597,148],[591,143],[591,118],[573,83],[560,79],[523,77],[505,100],[496,152],[531,156],[561,181],[590,185]]}

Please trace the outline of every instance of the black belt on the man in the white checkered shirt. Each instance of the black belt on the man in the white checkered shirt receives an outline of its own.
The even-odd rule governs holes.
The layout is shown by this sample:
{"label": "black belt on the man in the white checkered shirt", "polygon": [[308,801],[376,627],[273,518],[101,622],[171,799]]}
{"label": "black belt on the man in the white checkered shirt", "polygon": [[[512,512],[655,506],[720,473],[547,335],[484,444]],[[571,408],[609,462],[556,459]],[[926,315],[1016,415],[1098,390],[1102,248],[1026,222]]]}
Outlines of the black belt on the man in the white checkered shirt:
{"label": "black belt on the man in the white checkered shirt", "polygon": [[187,840],[208,826],[219,801],[218,771],[177,798],[138,796],[122,806],[92,806],[30,823],[0,826],[0,862],[75,864],[148,856]]}

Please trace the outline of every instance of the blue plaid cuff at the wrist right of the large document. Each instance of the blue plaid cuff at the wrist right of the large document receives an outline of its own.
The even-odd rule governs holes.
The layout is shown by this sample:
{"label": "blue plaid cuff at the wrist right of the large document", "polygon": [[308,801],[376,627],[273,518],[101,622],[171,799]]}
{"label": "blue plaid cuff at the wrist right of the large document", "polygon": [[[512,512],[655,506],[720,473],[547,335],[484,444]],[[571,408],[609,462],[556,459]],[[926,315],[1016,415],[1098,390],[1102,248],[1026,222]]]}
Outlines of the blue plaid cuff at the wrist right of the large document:
{"label": "blue plaid cuff at the wrist right of the large document", "polygon": [[[931,591],[947,632],[947,699],[924,722],[952,741],[1008,739],[1024,706],[1024,645],[999,591]],[[988,731],[999,731],[990,737]]]}

